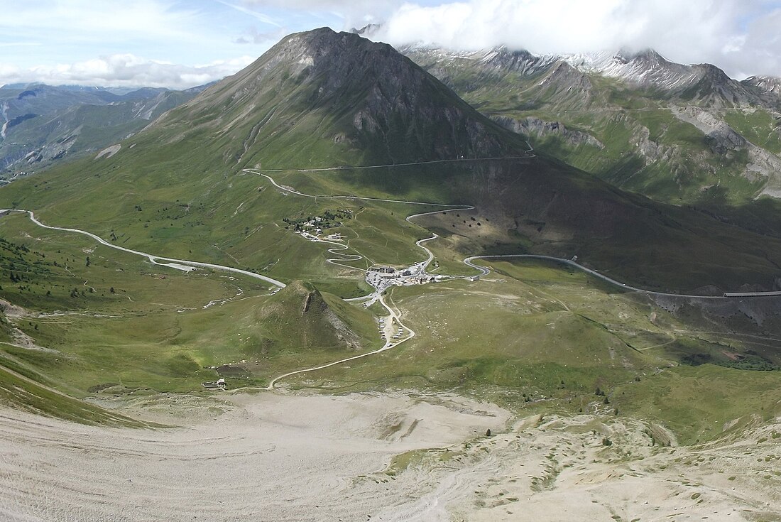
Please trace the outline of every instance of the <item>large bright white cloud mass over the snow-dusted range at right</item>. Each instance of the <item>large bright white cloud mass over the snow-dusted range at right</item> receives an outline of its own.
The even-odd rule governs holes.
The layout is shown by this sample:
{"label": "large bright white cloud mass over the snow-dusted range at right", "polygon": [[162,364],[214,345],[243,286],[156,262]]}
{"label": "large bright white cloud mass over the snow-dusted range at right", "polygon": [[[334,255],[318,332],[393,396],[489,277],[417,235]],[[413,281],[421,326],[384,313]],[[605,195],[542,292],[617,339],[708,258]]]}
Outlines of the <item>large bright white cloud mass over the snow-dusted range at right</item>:
{"label": "large bright white cloud mass over the snow-dusted range at right", "polygon": [[[271,1],[271,0],[269,0]],[[371,2],[368,2],[371,3]],[[763,0],[463,0],[398,5],[374,38],[540,54],[654,48],[733,75],[781,76],[781,9]]]}

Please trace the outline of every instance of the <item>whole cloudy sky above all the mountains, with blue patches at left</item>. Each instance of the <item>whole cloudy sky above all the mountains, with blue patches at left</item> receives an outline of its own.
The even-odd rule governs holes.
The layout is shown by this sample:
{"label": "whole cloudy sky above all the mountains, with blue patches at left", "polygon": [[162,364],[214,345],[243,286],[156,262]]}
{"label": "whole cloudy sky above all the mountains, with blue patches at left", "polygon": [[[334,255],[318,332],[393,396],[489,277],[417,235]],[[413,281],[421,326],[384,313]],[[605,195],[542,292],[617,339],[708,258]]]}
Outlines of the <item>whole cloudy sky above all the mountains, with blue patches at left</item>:
{"label": "whole cloudy sky above all the mountains, with blue patches at left", "polygon": [[393,45],[654,48],[736,78],[781,77],[781,0],[0,0],[0,84],[188,88],[285,34],[366,23]]}

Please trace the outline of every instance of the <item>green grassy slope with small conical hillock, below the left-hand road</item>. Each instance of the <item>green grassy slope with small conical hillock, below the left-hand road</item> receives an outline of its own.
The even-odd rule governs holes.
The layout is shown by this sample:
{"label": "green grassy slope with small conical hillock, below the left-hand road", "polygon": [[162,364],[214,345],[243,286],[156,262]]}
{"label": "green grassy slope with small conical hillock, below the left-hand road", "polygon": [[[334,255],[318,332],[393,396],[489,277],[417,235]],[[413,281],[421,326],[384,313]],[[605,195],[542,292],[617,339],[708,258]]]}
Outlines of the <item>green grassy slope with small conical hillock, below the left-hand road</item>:
{"label": "green grassy slope with small conical hillock, below the left-hand road", "polygon": [[[308,284],[183,274],[94,240],[0,221],[0,402],[87,423],[122,416],[77,399],[265,384],[378,347],[375,321]],[[89,263],[87,264],[87,258]]]}

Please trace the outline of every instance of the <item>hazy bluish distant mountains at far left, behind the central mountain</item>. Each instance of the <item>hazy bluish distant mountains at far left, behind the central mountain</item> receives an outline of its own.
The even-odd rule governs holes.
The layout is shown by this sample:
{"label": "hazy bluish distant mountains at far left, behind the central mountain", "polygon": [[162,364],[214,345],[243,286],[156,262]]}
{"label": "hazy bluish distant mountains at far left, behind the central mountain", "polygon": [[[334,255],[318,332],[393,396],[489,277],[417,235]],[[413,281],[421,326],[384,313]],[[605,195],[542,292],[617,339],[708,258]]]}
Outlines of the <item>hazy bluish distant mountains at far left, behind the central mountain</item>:
{"label": "hazy bluish distant mountains at far left, behind the central mountain", "polygon": [[31,173],[100,151],[204,88],[5,85],[0,88],[0,175]]}

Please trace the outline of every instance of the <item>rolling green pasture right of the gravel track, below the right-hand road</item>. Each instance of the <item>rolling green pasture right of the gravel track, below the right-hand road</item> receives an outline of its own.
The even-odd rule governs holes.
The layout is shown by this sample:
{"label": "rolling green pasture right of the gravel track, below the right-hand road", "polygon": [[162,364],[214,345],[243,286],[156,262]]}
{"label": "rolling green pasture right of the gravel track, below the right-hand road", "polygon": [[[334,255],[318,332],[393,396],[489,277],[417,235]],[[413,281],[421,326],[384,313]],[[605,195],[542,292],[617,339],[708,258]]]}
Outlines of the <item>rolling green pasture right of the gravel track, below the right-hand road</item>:
{"label": "rolling green pasture right of the gravel track, below the right-hand road", "polygon": [[751,361],[781,364],[772,347],[781,324],[778,301],[767,323],[738,328],[744,315],[737,309],[726,320],[724,311],[697,305],[670,313],[550,263],[485,263],[496,276],[480,284],[394,289],[391,300],[418,337],[373,361],[322,370],[294,386],[457,388],[521,415],[634,414],[671,427],[684,444],[740,431],[757,416],[772,420],[781,411],[772,393],[781,374],[741,369]]}

